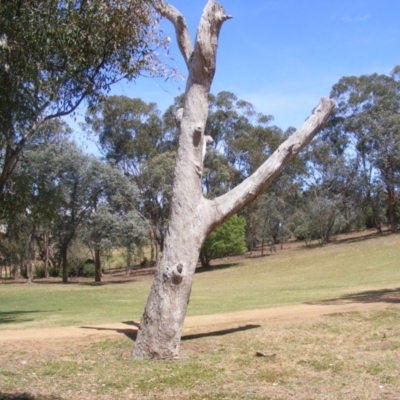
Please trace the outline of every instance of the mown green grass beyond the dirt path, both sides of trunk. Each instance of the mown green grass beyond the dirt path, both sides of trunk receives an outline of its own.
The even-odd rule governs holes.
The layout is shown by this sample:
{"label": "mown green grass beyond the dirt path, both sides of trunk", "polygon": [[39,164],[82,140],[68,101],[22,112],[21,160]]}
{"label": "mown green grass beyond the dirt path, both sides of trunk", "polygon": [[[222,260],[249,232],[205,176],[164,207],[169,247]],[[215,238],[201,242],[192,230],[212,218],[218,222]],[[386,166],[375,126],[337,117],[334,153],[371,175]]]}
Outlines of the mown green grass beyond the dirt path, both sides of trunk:
{"label": "mown green grass beyond the dirt path, both sides of trunk", "polygon": [[[298,248],[195,276],[188,315],[340,298],[400,284],[400,236]],[[0,329],[138,320],[151,284],[0,284]]]}

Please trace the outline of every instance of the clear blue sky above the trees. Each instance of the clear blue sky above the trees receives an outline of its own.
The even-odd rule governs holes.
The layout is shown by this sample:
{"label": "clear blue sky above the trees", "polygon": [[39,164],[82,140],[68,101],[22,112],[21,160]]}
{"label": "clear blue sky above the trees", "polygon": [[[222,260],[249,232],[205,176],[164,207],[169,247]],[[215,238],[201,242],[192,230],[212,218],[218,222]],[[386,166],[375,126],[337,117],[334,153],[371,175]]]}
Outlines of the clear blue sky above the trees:
{"label": "clear blue sky above the trees", "polygon": [[[343,76],[390,74],[400,64],[399,0],[221,0],[233,16],[222,27],[212,93],[227,90],[299,127]],[[206,0],[171,0],[194,39]],[[169,21],[168,63],[186,74]],[[113,94],[155,102],[161,111],[182,93],[184,81],[140,78]]]}

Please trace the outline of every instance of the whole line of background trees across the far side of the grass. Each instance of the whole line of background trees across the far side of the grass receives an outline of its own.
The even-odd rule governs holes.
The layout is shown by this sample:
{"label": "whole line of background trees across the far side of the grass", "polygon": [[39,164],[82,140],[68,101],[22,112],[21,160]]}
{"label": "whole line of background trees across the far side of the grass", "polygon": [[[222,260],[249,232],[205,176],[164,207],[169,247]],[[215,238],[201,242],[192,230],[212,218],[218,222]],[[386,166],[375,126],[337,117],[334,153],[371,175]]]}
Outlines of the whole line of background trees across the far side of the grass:
{"label": "whole line of background trees across the far side of the grass", "polygon": [[[337,107],[319,137],[240,216],[210,234],[203,265],[246,250],[279,249],[290,238],[327,243],[352,229],[398,229],[398,69],[390,76],[343,77],[331,95]],[[99,100],[88,107],[84,129],[97,139],[103,160],[83,154],[68,141],[71,129],[50,119],[26,141],[7,182],[0,251],[4,263],[18,262],[26,275],[35,273],[29,266],[35,257],[47,265],[44,275],[76,273],[81,267],[72,268],[74,254],[86,247],[85,260],[93,258],[100,280],[113,249],[120,249],[128,271],[143,260],[144,246],[150,245],[152,262],[163,250],[177,145],[174,112],[182,97],[164,113],[141,99]],[[209,106],[206,133],[214,141],[202,184],[212,199],[249,176],[293,129],[282,131],[230,92],[210,95]]]}

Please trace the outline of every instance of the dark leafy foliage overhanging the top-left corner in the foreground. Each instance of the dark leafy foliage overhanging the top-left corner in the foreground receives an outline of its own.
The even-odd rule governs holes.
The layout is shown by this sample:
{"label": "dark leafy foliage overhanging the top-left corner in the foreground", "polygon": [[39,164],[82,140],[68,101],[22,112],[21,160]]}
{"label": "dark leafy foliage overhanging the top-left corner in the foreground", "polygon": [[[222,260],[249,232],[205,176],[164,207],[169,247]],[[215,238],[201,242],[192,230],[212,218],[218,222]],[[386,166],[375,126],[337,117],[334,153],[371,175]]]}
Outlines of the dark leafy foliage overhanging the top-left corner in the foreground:
{"label": "dark leafy foliage overhanging the top-left corner in the foreground", "polygon": [[166,73],[152,0],[0,2],[0,196],[49,120],[141,71]]}

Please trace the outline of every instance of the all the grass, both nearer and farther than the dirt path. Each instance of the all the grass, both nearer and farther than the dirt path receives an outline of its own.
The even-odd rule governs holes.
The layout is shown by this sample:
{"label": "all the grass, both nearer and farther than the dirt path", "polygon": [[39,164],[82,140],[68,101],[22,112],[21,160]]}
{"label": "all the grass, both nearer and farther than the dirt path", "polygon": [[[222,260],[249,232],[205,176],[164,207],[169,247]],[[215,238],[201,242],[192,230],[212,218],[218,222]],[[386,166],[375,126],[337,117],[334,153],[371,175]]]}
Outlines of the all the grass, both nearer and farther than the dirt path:
{"label": "all the grass, both nearer and farther than the dirt path", "polygon": [[[228,260],[196,275],[189,313],[276,307],[371,290],[398,293],[399,260],[399,235]],[[148,276],[105,285],[1,284],[0,338],[2,329],[139,318],[150,281]],[[224,334],[189,336],[173,361],[133,361],[132,339],[122,334],[5,341],[0,399],[398,400],[397,299],[379,311],[269,320]]]}

